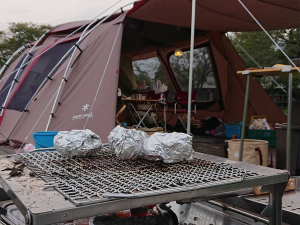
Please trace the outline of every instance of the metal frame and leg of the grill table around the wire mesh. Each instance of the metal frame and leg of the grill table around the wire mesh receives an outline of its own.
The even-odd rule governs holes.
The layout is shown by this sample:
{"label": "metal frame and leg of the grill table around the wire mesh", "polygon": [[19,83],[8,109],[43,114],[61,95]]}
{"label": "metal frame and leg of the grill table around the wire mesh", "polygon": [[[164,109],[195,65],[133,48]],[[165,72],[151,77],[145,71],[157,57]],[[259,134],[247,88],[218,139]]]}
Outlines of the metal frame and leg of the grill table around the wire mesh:
{"label": "metal frame and leg of the grill table around the wire mesh", "polygon": [[[260,173],[262,176],[246,178],[242,182],[235,182],[229,184],[221,184],[218,186],[205,187],[201,189],[190,188],[187,190],[179,190],[178,192],[161,191],[154,195],[135,196],[134,198],[112,198],[106,202],[98,202],[95,204],[74,206],[69,200],[66,200],[55,190],[43,190],[42,185],[44,181],[39,178],[13,178],[9,179],[9,171],[0,171],[0,185],[6,193],[14,201],[21,213],[26,216],[27,221],[32,221],[31,225],[43,225],[49,223],[57,223],[63,221],[70,221],[78,218],[85,218],[89,216],[101,215],[105,213],[125,210],[130,208],[137,208],[152,204],[166,203],[170,201],[179,201],[190,199],[208,199],[216,198],[218,195],[228,193],[235,190],[244,190],[249,187],[265,185],[273,188],[271,190],[273,197],[271,198],[270,214],[271,225],[280,224],[281,221],[281,192],[280,187],[283,187],[288,179],[289,173],[287,171],[275,170],[272,168],[264,168],[247,164],[243,162],[230,161],[224,158],[210,156],[206,154],[196,153],[195,157],[215,163],[229,163],[233,167],[241,168],[247,171]],[[1,164],[5,165],[9,162],[9,158],[5,156],[0,157]],[[27,173],[29,172],[27,168]],[[34,190],[24,184],[35,183],[40,185]],[[274,190],[274,191],[273,191]],[[24,194],[26,193],[26,195]],[[117,196],[115,196],[117,197]],[[124,196],[119,196],[124,197]],[[129,196],[130,197],[130,196]],[[35,202],[34,204],[32,202]],[[274,204],[273,204],[274,203]],[[278,216],[279,215],[279,216]]]}

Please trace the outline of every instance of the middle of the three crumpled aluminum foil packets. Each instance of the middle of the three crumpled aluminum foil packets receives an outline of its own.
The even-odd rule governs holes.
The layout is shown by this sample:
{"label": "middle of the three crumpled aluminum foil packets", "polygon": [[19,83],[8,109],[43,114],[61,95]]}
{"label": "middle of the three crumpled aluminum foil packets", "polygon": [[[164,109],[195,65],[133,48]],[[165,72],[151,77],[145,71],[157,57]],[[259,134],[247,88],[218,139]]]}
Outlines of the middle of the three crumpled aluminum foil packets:
{"label": "middle of the three crumpled aluminum foil packets", "polygon": [[144,131],[115,127],[108,136],[110,149],[121,160],[137,159],[143,154],[148,135]]}

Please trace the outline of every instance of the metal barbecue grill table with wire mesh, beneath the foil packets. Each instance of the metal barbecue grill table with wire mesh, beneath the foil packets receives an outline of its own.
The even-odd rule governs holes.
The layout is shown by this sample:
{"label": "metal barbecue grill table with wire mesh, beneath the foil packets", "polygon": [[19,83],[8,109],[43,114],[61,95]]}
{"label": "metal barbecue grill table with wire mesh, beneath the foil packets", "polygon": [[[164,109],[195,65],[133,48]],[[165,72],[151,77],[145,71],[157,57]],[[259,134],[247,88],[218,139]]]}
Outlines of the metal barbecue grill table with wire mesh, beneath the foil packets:
{"label": "metal barbecue grill table with wire mesh, beneath the foil packets", "polygon": [[[170,201],[215,198],[258,185],[265,185],[272,196],[265,211],[270,223],[281,221],[288,172],[200,153],[195,156],[191,162],[163,164],[121,161],[108,149],[76,159],[66,159],[56,151],[18,154],[27,167],[25,175],[10,177],[9,171],[1,171],[0,185],[33,225]],[[9,160],[0,158],[1,170]],[[30,177],[31,171],[37,177]]]}

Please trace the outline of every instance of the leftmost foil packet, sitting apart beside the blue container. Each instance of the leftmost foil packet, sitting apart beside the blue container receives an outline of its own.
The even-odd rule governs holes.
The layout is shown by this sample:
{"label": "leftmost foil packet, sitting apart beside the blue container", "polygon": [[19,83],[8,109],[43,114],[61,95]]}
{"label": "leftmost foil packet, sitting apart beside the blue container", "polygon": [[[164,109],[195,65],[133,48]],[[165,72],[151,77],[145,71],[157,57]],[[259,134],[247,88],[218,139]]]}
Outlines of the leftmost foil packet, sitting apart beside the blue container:
{"label": "leftmost foil packet, sitting apart beside the blue container", "polygon": [[60,131],[54,137],[54,147],[66,158],[87,157],[99,152],[102,142],[97,134],[88,129]]}

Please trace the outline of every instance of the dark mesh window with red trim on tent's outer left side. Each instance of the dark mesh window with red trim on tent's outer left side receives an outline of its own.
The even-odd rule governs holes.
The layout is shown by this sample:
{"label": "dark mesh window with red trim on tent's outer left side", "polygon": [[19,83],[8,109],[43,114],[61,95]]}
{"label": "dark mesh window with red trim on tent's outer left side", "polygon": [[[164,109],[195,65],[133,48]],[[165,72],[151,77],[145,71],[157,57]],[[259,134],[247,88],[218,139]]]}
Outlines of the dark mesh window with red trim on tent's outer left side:
{"label": "dark mesh window with red trim on tent's outer left side", "polygon": [[[11,98],[7,108],[23,111],[43,80],[48,76],[49,72],[76,41],[77,40],[72,40],[58,44],[45,52],[28,72],[20,87]],[[58,69],[59,68],[56,68],[52,74],[55,74]]]}

